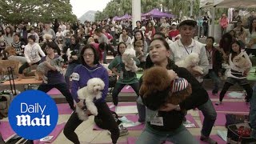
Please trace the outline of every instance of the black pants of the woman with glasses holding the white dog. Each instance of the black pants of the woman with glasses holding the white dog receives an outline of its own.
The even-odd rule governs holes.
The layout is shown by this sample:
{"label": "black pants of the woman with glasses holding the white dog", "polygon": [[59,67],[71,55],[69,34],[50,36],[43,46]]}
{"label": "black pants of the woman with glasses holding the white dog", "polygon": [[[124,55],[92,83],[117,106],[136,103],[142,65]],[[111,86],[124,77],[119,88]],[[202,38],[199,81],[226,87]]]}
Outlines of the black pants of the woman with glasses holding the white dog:
{"label": "black pants of the woman with glasses holding the white dog", "polygon": [[[112,113],[110,112],[109,106],[106,105],[106,102],[95,103],[95,106],[98,109],[98,118],[102,118],[102,122],[107,122],[107,130],[111,132],[111,139],[113,143],[117,143],[119,138],[119,129],[118,124],[115,122]],[[66,138],[68,138],[74,144],[80,143],[78,140],[78,135],[75,134],[74,130],[82,123],[83,121],[78,118],[77,113],[71,114],[69,120],[66,122],[63,133]]]}

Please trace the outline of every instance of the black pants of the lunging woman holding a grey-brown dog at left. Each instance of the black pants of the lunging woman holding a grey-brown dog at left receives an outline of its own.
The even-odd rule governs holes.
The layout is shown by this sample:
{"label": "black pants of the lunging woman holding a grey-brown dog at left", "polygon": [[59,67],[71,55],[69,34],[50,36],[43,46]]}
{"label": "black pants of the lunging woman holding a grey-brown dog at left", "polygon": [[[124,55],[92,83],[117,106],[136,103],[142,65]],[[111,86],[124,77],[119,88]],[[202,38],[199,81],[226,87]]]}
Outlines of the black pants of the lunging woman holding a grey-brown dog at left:
{"label": "black pants of the lunging woman holding a grey-brown dog at left", "polygon": [[41,90],[45,93],[50,91],[52,88],[58,89],[66,98],[66,102],[69,103],[70,108],[73,110],[74,109],[74,100],[72,95],[70,94],[70,90],[67,88],[66,83],[58,83],[58,84],[42,84],[38,87],[38,90]]}

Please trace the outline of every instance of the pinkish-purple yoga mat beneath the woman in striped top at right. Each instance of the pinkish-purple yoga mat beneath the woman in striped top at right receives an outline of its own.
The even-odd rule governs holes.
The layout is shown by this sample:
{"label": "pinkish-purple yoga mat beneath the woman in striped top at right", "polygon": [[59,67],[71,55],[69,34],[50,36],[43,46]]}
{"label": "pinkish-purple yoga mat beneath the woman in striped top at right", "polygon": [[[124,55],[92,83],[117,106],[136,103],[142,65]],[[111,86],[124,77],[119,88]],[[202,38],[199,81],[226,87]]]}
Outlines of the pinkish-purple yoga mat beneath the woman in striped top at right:
{"label": "pinkish-purple yoga mat beneath the woman in striped top at right", "polygon": [[216,111],[234,111],[234,112],[249,112],[250,107],[246,102],[222,102],[221,105],[216,106],[213,102]]}

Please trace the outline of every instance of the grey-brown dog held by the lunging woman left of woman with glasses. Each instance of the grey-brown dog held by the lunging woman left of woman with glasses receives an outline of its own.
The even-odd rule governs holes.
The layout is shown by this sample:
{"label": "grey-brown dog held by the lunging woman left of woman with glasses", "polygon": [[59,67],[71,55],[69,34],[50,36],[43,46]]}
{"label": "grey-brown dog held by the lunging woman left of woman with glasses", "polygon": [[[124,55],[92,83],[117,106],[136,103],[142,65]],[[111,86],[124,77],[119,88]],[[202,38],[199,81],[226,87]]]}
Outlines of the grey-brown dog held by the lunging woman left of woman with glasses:
{"label": "grey-brown dog held by the lunging woman left of woman with glasses", "polygon": [[[54,58],[50,61],[50,65],[54,66],[58,71],[62,70],[62,66],[64,65],[63,58]],[[37,80],[43,80],[43,82],[48,83],[48,78],[46,77],[46,74],[50,68],[46,66],[46,61],[42,62],[38,65],[37,70],[35,71],[35,79]]]}

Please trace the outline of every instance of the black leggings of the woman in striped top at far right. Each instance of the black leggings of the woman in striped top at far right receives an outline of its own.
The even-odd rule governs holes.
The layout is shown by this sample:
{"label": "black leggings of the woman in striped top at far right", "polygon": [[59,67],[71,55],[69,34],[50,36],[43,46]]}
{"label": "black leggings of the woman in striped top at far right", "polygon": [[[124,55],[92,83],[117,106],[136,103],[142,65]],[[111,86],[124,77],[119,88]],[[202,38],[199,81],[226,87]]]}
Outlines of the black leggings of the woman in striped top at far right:
{"label": "black leggings of the woman in striped top at far right", "polygon": [[[225,82],[224,83],[224,86],[222,88],[222,92],[219,94],[219,102],[222,102],[222,100],[223,100],[223,98],[226,94],[226,91],[229,90],[230,86],[233,86],[233,84],[230,83],[230,82]],[[253,95],[253,89],[250,87],[250,84],[242,85],[242,88],[244,90],[246,90],[246,94],[247,94],[246,97],[250,99]]]}

